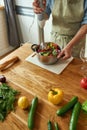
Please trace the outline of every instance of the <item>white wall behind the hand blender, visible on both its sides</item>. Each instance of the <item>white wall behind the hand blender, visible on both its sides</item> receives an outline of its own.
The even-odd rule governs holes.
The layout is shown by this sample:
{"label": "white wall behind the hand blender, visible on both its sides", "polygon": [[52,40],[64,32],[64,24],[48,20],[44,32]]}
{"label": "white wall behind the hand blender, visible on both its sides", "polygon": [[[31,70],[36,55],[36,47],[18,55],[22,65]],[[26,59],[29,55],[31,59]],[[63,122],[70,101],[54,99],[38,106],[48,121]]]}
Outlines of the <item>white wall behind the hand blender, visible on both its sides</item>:
{"label": "white wall behind the hand blender, visible on both its sides", "polygon": [[[21,10],[25,11],[25,14],[17,14],[16,12],[16,19],[21,42],[38,44],[40,42],[40,32],[38,31],[37,15],[35,15],[33,9],[31,9],[32,2],[33,0],[15,0],[15,5],[19,6],[19,8],[20,6],[23,7]],[[45,41],[50,41],[50,32],[51,19],[46,22],[44,27]]]}

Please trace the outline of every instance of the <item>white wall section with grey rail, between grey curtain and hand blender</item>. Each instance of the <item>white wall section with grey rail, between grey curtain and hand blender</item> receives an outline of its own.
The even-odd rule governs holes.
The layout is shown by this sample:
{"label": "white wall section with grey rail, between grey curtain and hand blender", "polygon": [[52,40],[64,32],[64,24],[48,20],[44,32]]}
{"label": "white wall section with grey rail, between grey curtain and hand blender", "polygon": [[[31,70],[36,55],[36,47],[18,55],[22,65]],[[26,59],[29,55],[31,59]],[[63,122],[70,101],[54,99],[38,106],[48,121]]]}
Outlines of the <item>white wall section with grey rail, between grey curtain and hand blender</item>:
{"label": "white wall section with grey rail, between grey curtain and hand blender", "polygon": [[33,0],[15,0],[16,21],[21,42],[38,43],[38,27],[32,9]]}

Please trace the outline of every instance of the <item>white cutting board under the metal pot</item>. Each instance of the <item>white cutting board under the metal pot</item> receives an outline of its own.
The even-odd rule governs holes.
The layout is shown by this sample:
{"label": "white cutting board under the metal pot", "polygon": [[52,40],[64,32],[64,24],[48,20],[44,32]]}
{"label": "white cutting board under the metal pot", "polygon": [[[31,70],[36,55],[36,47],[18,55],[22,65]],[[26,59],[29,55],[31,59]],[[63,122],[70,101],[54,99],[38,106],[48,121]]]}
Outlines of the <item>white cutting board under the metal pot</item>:
{"label": "white cutting board under the metal pot", "polygon": [[68,64],[73,60],[73,57],[67,59],[67,60],[58,60],[58,62],[56,62],[55,64],[52,65],[44,65],[42,64],[38,58],[37,55],[35,53],[31,54],[30,56],[28,56],[26,59],[26,61],[33,63],[39,67],[42,67],[50,72],[56,73],[56,74],[60,74],[67,66]]}

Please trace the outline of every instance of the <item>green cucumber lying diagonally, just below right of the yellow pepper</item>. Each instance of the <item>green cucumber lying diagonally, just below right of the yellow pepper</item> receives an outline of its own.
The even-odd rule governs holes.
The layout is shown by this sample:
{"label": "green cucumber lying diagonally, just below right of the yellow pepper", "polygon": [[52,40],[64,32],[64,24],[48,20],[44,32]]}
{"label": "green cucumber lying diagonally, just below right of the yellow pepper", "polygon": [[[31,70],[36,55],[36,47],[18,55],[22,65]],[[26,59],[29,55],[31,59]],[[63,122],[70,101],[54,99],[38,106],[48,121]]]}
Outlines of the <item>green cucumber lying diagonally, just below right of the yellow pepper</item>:
{"label": "green cucumber lying diagonally, just below right of the yellow pepper", "polygon": [[56,114],[58,116],[63,116],[68,110],[70,110],[75,103],[78,101],[78,97],[74,96],[66,105],[57,110]]}

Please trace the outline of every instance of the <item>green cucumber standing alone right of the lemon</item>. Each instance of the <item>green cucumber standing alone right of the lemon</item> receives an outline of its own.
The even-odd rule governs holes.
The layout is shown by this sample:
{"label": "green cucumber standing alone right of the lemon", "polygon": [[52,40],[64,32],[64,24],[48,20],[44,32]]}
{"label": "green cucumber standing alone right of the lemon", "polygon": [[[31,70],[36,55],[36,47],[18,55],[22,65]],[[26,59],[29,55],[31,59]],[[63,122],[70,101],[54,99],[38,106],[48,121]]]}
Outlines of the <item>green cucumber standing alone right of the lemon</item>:
{"label": "green cucumber standing alone right of the lemon", "polygon": [[38,104],[38,98],[35,97],[32,100],[30,111],[29,111],[29,114],[28,114],[28,128],[30,130],[33,130],[33,128],[34,128],[34,116],[35,116],[37,104]]}

